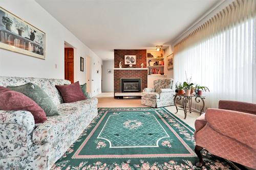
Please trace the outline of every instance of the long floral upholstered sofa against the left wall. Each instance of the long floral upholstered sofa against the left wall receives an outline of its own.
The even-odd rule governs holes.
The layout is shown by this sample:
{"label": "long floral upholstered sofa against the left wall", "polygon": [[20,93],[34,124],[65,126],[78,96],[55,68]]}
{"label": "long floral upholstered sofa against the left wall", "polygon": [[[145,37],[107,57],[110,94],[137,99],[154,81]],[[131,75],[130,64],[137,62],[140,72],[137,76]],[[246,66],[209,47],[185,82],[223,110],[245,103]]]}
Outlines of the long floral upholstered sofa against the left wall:
{"label": "long floral upholstered sofa against the left wall", "polygon": [[50,169],[98,114],[96,98],[63,103],[55,85],[68,80],[0,77],[0,86],[35,83],[44,89],[60,115],[35,124],[29,111],[0,110],[0,169]]}

